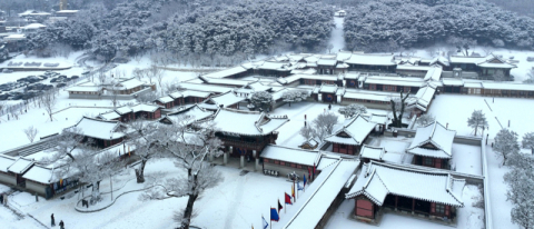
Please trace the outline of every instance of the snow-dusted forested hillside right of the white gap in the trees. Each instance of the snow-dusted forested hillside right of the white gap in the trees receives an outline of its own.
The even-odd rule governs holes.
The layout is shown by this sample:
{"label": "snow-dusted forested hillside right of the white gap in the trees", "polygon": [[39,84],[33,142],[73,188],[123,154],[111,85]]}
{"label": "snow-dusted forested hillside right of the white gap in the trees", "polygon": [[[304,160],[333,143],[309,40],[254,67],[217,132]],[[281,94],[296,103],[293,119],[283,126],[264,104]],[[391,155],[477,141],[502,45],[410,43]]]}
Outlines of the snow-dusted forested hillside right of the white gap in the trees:
{"label": "snow-dusted forested hillside right of the white gap in the trees", "polygon": [[345,19],[348,49],[389,51],[447,42],[533,49],[534,19],[484,0],[377,0]]}

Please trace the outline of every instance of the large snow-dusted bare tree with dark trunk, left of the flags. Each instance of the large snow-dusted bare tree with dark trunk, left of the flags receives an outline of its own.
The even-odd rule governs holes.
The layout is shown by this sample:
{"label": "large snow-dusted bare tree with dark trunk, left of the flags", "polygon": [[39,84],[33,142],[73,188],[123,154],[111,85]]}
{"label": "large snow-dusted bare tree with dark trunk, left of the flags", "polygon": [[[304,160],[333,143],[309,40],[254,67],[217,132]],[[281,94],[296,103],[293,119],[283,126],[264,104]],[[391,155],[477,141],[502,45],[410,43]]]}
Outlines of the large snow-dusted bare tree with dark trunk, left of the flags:
{"label": "large snow-dusted bare tree with dark trunk, left of the flags", "polygon": [[215,125],[206,122],[198,126],[198,131],[188,132],[189,128],[182,122],[160,127],[158,132],[158,149],[175,160],[175,166],[186,171],[186,179],[180,176],[167,179],[162,186],[169,197],[187,197],[187,205],[182,212],[175,218],[182,229],[189,229],[194,217],[194,206],[198,197],[207,188],[217,186],[221,175],[209,163],[207,158],[222,155],[222,141],[216,136]]}

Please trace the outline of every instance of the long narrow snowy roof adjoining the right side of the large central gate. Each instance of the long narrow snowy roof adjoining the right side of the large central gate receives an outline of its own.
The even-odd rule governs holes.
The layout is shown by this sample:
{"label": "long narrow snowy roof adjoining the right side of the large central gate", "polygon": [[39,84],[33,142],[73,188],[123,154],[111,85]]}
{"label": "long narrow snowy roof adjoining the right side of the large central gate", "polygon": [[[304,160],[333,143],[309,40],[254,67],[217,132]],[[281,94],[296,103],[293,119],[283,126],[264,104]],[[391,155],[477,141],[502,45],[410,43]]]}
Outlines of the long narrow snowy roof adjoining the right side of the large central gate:
{"label": "long narrow snowy roof adjoining the right side of the large central gate", "polygon": [[320,157],[320,153],[314,150],[268,145],[264,151],[261,151],[260,157],[304,166],[314,166],[317,158]]}

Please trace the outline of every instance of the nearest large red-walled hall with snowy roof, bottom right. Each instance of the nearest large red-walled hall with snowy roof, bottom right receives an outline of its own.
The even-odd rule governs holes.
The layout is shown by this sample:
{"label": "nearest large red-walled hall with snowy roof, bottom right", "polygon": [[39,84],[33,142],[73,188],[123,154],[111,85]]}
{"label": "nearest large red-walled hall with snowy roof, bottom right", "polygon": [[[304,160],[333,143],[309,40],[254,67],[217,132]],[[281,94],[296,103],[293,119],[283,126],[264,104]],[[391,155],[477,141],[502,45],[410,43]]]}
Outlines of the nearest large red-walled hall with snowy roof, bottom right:
{"label": "nearest large red-walled hall with snowy roof, bottom right", "polygon": [[385,210],[402,211],[453,223],[465,180],[445,171],[422,170],[372,161],[345,197],[355,200],[353,218],[379,223]]}

